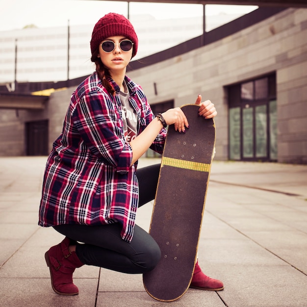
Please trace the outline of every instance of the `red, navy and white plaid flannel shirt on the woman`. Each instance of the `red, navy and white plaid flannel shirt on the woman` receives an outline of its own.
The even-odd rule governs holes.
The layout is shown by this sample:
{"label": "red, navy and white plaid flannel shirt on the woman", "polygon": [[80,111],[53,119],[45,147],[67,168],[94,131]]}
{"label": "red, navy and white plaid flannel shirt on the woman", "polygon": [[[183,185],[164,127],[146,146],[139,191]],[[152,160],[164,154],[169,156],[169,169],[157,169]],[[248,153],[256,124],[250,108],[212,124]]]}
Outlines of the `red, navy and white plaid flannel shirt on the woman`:
{"label": "red, navy and white plaid flannel shirt on the woman", "polygon": [[[142,88],[125,77],[129,102],[141,133],[154,115]],[[119,222],[121,236],[130,242],[138,206],[137,162],[124,138],[119,86],[115,95],[102,86],[97,73],[72,94],[63,131],[53,143],[44,174],[39,225],[101,225]],[[151,148],[162,153],[163,128]]]}

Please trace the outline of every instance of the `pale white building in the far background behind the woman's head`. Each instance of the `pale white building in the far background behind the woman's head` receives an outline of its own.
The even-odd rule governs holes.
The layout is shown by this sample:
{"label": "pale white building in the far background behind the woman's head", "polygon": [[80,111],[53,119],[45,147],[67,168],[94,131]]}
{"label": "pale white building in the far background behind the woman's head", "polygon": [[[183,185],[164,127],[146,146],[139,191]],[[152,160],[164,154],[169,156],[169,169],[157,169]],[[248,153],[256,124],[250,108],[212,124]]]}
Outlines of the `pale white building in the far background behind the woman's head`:
{"label": "pale white building in the far background behind the woman's head", "polygon": [[[256,7],[251,7],[254,10]],[[242,14],[206,17],[206,30],[227,24]],[[202,35],[203,17],[156,19],[152,15],[130,17],[140,44],[134,58],[171,48]],[[60,81],[93,72],[90,47],[93,24],[58,27],[27,25],[0,31],[0,83]],[[16,75],[15,75],[16,68]]]}

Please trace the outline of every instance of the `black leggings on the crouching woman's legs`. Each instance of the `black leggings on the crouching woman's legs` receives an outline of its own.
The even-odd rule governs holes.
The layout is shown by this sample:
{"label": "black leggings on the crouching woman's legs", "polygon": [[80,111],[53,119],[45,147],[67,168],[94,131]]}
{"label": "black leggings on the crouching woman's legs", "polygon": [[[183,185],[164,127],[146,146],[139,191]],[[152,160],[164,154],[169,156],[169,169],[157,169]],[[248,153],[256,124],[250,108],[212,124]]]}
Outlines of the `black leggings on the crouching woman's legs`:
{"label": "black leggings on the crouching woman's legs", "polygon": [[[154,199],[159,169],[160,165],[155,164],[137,170],[139,207]],[[84,243],[76,247],[77,256],[84,264],[140,274],[151,271],[161,256],[152,236],[137,225],[130,243],[122,239],[119,223],[101,226],[65,224],[53,228],[72,240]]]}

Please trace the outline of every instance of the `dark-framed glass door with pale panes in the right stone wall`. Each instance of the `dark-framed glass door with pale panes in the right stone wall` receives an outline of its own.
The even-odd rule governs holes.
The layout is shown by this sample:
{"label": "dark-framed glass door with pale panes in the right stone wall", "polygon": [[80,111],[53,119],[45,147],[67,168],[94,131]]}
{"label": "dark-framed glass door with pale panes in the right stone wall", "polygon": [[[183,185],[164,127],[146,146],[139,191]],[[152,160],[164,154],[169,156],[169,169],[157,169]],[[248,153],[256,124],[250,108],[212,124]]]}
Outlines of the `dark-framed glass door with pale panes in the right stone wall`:
{"label": "dark-framed glass door with pale panes in the right stone wall", "polygon": [[277,160],[277,103],[272,84],[276,84],[275,75],[229,88],[231,160]]}

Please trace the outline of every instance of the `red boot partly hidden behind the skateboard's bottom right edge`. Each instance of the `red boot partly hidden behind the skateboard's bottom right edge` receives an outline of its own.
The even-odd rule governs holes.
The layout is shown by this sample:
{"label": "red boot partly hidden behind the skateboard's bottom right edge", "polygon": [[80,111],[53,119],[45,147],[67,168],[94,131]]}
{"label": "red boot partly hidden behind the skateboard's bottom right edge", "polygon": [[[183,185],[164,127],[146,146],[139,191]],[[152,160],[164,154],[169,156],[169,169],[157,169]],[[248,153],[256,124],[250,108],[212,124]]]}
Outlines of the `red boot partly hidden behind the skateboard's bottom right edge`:
{"label": "red boot partly hidden behind the skateboard's bottom right edge", "polygon": [[220,291],[224,289],[222,281],[210,278],[206,276],[198,264],[198,260],[195,264],[194,274],[190,284],[190,288],[196,288],[201,290]]}

